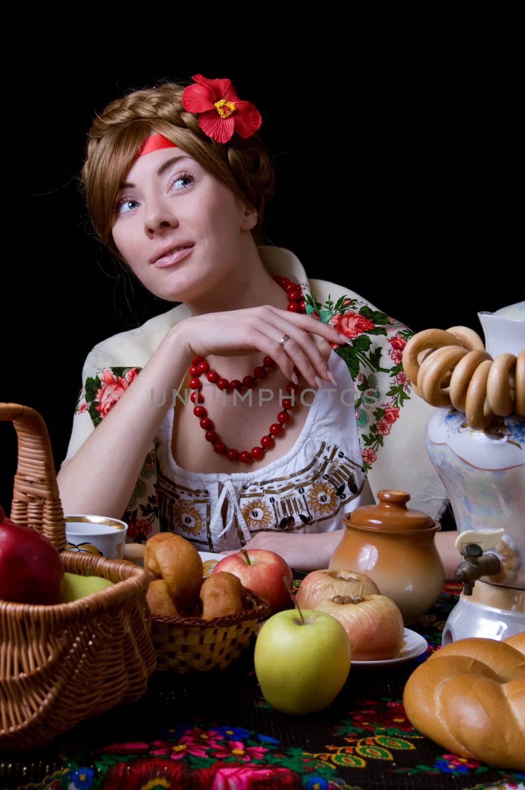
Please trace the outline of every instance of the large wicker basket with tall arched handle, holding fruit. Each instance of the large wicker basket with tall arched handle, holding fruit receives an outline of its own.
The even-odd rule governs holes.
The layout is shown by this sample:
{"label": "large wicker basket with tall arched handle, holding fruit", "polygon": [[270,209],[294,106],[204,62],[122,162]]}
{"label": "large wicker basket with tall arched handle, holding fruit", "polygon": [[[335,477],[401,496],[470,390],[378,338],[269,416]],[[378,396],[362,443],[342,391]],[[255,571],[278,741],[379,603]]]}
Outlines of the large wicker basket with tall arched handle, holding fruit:
{"label": "large wicker basket with tall arched handle, holding fruit", "polygon": [[[0,404],[18,436],[11,518],[62,551],[66,528],[47,428],[32,408]],[[156,664],[148,574],[122,560],[64,551],[66,570],[119,582],[71,604],[0,602],[0,747],[23,750],[139,698]],[[92,570],[90,570],[92,569]]]}

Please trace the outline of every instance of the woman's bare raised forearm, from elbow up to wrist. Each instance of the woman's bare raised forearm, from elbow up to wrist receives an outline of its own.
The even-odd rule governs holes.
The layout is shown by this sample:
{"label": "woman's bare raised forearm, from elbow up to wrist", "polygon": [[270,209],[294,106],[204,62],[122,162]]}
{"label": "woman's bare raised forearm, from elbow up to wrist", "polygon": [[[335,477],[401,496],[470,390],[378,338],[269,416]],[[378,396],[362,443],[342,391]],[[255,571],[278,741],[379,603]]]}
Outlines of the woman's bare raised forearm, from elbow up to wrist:
{"label": "woman's bare raised forearm, from elbow up to wrist", "polygon": [[[171,329],[133,384],[58,473],[65,513],[122,517],[189,359]],[[159,405],[162,401],[163,405]]]}

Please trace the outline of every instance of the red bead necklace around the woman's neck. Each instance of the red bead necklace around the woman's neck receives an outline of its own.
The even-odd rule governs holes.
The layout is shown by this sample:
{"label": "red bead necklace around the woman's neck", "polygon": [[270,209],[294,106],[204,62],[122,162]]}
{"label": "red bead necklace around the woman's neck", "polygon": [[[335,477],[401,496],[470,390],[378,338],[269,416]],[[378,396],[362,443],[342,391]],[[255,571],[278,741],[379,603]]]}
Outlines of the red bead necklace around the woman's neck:
{"label": "red bead necklace around the woman's neck", "polygon": [[[273,279],[287,292],[287,309],[290,310],[291,313],[306,313],[306,303],[302,296],[301,286],[291,282],[287,277],[275,276]],[[212,419],[208,417],[208,412],[204,408],[204,405],[202,405],[204,404],[204,396],[200,392],[202,388],[201,375],[205,373],[208,382],[215,384],[221,390],[227,389],[233,391],[236,389],[239,392],[243,388],[252,389],[257,380],[266,377],[267,369],[275,367],[275,364],[272,357],[265,356],[262,365],[257,365],[253,368],[253,375],[245,376],[242,382],[239,381],[238,378],[234,378],[229,382],[227,378],[220,376],[217,371],[211,371],[208,362],[206,359],[203,359],[203,357],[196,356],[192,360],[191,366],[189,367],[189,375],[191,376],[189,379],[189,387],[193,389],[193,393],[190,395],[190,400],[194,404],[193,414],[199,419],[199,424],[203,431],[205,431],[204,438],[206,441],[212,444],[213,450],[215,450],[216,453],[226,455],[229,461],[242,461],[247,464],[249,461],[257,461],[258,458],[262,457],[264,450],[268,450],[268,448],[273,445],[274,438],[279,436],[285,423],[290,419],[288,409],[292,408],[292,397],[283,398],[283,408],[277,415],[277,422],[272,423],[268,429],[268,434],[264,434],[261,438],[261,445],[252,447],[250,452],[248,452],[248,450],[242,450],[242,452],[239,453],[238,450],[234,450],[233,447],[228,449],[224,442],[220,441],[215,430],[215,425]],[[294,382],[287,383],[288,395],[291,396],[292,393],[298,392],[298,389],[298,385],[294,384]]]}

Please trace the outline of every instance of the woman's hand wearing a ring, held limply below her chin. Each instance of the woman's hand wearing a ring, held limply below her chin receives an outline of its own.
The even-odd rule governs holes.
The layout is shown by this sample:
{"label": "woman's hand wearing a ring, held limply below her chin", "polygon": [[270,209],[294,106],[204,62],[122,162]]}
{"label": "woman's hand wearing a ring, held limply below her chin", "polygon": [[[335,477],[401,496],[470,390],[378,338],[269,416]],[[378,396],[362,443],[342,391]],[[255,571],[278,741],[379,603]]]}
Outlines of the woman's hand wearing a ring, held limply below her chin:
{"label": "woman's hand wearing a ring, held limply below her chin", "polygon": [[[310,334],[328,343],[344,342],[336,329],[316,318],[266,305],[192,316],[177,325],[177,333],[188,360],[197,355],[206,358],[262,352],[272,357],[288,379],[297,381],[295,367],[314,387],[320,383],[316,378],[327,382],[334,382],[334,378]],[[285,335],[288,339],[281,344]]]}

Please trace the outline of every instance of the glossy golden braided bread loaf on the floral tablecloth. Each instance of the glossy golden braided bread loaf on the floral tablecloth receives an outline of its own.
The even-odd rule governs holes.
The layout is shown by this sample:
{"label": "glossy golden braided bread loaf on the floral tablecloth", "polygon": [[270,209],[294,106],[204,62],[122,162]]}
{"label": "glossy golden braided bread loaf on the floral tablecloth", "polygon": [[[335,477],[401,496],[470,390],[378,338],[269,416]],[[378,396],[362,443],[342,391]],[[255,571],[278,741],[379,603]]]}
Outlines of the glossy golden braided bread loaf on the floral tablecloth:
{"label": "glossy golden braided bread loaf on the floral tablecloth", "polygon": [[[522,652],[523,651],[523,652]],[[459,639],[412,672],[403,705],[441,747],[490,766],[525,769],[525,632]]]}

